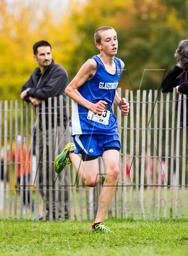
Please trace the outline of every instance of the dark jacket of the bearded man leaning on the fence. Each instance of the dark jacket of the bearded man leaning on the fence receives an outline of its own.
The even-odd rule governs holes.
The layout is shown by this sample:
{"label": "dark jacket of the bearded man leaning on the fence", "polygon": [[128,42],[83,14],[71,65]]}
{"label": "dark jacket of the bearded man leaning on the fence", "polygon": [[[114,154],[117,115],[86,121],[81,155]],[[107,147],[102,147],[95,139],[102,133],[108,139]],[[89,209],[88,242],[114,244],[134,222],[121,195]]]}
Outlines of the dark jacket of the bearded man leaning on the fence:
{"label": "dark jacket of the bearded man leaning on the fence", "polygon": [[[41,78],[41,79],[40,79]],[[40,81],[39,81],[40,79]],[[39,81],[39,83],[38,83]],[[59,95],[63,95],[63,105],[64,105],[64,125],[66,123],[66,95],[64,90],[68,84],[68,74],[63,67],[55,64],[52,61],[51,65],[46,68],[46,70],[41,74],[39,67],[37,67],[30,79],[21,87],[21,92],[30,88],[27,96],[24,98],[27,102],[30,102],[29,97],[45,100],[46,103],[46,128],[48,129],[48,98],[54,98]],[[57,124],[60,126],[60,101],[57,98]],[[41,112],[42,104],[39,105],[39,112]],[[54,127],[54,100],[51,101],[51,120],[52,127]],[[42,117],[39,115],[40,129],[42,129]]]}

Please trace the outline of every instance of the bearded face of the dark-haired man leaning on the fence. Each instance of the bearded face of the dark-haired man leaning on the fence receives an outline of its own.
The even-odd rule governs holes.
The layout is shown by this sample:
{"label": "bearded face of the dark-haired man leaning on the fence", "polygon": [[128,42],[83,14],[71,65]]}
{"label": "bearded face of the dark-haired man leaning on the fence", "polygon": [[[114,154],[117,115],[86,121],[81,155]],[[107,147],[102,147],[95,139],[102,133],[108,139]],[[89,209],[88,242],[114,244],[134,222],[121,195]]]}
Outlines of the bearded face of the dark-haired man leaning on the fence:
{"label": "bearded face of the dark-haired man leaning on the fence", "polygon": [[40,67],[48,67],[52,61],[52,54],[50,46],[40,46],[37,49],[37,54],[34,59],[38,62]]}

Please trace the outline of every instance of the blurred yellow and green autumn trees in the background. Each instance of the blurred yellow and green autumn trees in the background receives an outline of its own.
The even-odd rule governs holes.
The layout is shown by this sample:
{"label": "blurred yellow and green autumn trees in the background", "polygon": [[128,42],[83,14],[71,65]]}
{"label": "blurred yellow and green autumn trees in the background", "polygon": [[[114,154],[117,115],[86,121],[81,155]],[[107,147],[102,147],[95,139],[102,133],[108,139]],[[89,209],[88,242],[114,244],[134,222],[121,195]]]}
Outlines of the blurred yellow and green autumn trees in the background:
{"label": "blurred yellow and green autumn trees in the background", "polygon": [[[45,2],[45,1],[43,1]],[[32,45],[48,40],[56,63],[63,65],[69,80],[92,55],[98,54],[94,31],[112,26],[118,34],[117,57],[127,71],[121,78],[123,89],[139,88],[144,69],[167,69],[175,64],[173,54],[186,35],[186,1],[87,0],[70,1],[49,7],[38,1],[0,2],[0,95],[18,99],[21,85],[37,66]],[[128,75],[131,81],[128,79]],[[142,89],[156,89],[163,73],[147,72]],[[132,86],[132,87],[131,87]]]}

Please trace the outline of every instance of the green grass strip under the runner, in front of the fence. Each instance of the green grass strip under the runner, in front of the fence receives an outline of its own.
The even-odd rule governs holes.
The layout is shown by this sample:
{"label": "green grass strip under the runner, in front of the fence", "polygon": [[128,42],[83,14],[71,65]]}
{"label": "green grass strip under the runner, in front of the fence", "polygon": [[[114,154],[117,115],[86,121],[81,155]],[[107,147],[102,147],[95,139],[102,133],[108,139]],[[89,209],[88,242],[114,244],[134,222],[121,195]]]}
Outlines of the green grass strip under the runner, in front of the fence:
{"label": "green grass strip under the runner, in front of the fence", "polygon": [[188,256],[188,220],[105,221],[112,234],[90,231],[91,221],[0,221],[0,256]]}

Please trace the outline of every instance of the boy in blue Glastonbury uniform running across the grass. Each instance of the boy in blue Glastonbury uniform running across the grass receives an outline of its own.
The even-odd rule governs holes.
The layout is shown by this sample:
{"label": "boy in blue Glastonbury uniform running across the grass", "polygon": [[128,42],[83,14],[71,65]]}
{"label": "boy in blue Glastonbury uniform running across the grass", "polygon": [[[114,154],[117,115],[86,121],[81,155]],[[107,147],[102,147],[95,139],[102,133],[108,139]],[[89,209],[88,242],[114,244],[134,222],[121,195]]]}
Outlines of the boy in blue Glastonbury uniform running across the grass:
{"label": "boy in blue Glastonbury uniform running across the grass", "polygon": [[[55,171],[60,173],[64,166],[73,163],[78,175],[85,184],[93,187],[99,182],[98,157],[103,159],[105,180],[92,230],[109,233],[111,230],[103,224],[119,175],[119,151],[121,148],[112,112],[112,103],[119,106],[124,115],[128,115],[129,103],[120,99],[116,88],[124,69],[124,63],[115,58],[118,49],[117,34],[112,27],[99,27],[94,40],[100,54],[88,59],[74,79],[65,89],[73,99],[72,136],[69,143],[54,162]],[[75,146],[76,145],[76,146]],[[81,153],[81,159],[78,156]]]}

